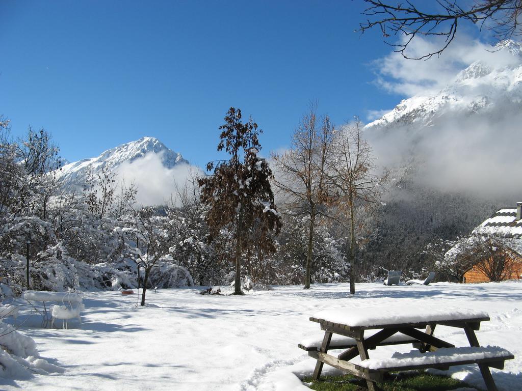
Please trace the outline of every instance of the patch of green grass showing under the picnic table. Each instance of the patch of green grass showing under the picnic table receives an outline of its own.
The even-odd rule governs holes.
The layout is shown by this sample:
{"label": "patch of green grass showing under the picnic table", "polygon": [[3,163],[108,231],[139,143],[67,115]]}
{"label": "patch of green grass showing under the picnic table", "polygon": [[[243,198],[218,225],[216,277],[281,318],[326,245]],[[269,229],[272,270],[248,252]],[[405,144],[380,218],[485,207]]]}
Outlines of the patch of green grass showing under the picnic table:
{"label": "patch of green grass showing under the picnic table", "polygon": [[[303,382],[313,383],[310,388],[316,391],[363,391],[366,381],[352,375],[321,376],[318,382],[311,377]],[[384,391],[449,391],[459,387],[469,387],[464,382],[451,377],[430,375],[424,372],[392,374],[377,386]]]}

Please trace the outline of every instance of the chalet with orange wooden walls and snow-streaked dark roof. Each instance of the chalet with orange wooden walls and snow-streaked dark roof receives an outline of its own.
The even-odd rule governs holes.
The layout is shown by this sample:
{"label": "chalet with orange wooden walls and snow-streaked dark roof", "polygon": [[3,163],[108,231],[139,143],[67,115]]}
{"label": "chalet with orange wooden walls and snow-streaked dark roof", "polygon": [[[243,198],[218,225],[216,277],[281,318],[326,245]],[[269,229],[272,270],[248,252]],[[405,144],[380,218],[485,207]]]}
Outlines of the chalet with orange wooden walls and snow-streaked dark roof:
{"label": "chalet with orange wooden walls and snow-streaked dark roof", "polygon": [[[522,278],[522,202],[517,202],[516,208],[503,208],[480,224],[472,232],[474,235],[494,237],[501,243],[505,262],[502,279]],[[464,275],[465,283],[489,282],[477,265]]]}

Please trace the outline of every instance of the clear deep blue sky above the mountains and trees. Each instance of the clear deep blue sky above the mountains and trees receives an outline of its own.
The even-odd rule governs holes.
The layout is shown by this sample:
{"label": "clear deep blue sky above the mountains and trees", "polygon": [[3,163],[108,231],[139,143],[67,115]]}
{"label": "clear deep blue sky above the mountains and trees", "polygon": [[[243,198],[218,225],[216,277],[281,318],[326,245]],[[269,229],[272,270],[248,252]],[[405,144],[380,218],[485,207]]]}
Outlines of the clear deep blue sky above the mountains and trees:
{"label": "clear deep blue sky above the mountains and trees", "polygon": [[[285,148],[307,103],[341,124],[405,97],[375,82],[389,55],[361,1],[0,3],[0,114],[45,128],[70,161],[143,136],[193,164],[218,156],[230,106]],[[389,75],[388,75],[389,76]]]}

